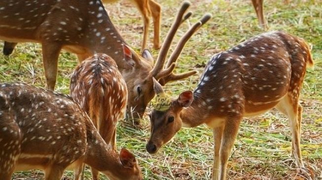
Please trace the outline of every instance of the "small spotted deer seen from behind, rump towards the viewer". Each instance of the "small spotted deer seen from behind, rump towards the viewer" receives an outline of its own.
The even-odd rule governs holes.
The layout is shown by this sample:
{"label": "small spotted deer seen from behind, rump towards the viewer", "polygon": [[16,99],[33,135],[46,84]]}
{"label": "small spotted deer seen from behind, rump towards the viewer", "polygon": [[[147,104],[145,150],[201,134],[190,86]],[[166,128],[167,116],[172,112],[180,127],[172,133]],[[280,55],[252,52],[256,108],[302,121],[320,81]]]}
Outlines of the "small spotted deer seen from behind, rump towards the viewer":
{"label": "small spotted deer seen from behind, rump towards the viewer", "polygon": [[[116,122],[124,113],[127,90],[115,61],[105,54],[96,54],[81,62],[72,74],[70,93],[104,141],[116,149]],[[92,169],[92,176],[98,180],[98,171]]]}

